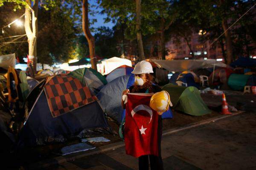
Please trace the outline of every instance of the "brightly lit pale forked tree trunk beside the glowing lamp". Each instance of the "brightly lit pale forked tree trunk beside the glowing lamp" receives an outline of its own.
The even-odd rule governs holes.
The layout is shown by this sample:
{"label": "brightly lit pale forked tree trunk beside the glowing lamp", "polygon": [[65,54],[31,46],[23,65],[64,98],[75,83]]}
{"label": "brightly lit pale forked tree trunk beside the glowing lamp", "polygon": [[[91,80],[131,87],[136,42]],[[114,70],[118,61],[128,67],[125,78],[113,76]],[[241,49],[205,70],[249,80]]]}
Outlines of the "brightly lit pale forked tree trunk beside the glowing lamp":
{"label": "brightly lit pale forked tree trunk beside the glowing lamp", "polygon": [[[24,28],[29,43],[29,59],[32,61],[33,71],[36,72],[37,51],[36,51],[36,36],[38,32],[37,15],[38,15],[38,0],[34,1],[34,6],[31,7],[31,0],[26,0],[25,22]],[[31,15],[32,14],[32,15]],[[32,26],[32,28],[31,28]]]}

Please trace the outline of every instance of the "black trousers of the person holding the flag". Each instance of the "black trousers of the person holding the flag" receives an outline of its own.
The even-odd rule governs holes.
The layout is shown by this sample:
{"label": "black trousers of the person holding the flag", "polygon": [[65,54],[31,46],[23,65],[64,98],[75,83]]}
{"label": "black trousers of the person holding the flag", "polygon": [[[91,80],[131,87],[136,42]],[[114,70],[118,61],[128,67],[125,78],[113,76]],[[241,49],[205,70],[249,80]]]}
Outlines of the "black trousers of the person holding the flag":
{"label": "black trousers of the person holding the flag", "polygon": [[150,168],[151,170],[163,170],[163,161],[161,157],[161,139],[162,139],[162,117],[159,116],[158,118],[158,150],[159,156],[154,155],[143,155],[139,157],[139,170],[148,170],[148,157],[150,161]]}

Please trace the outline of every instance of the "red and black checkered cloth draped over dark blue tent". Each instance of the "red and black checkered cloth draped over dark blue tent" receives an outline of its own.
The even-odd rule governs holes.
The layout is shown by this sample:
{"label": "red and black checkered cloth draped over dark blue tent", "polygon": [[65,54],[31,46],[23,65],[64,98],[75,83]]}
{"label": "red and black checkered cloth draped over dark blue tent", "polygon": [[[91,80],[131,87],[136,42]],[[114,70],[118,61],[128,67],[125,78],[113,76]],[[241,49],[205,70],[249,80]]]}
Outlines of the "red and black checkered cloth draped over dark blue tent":
{"label": "red and black checkered cloth draped over dark blue tent", "polygon": [[90,94],[89,88],[75,77],[58,74],[48,79],[44,91],[53,117],[97,100],[96,96]]}

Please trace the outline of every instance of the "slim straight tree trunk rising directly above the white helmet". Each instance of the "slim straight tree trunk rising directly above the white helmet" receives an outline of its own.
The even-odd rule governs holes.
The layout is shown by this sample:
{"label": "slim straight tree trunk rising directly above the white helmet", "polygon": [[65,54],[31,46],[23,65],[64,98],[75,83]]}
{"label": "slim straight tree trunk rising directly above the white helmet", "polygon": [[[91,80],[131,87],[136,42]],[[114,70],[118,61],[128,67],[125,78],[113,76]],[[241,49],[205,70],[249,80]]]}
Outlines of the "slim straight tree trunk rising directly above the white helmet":
{"label": "slim straight tree trunk rising directly above the white helmet", "polygon": [[138,48],[139,48],[139,60],[144,60],[144,50],[143,50],[143,42],[142,42],[142,35],[141,35],[141,29],[140,29],[140,5],[141,0],[136,0],[136,32],[137,32],[137,42],[138,42]]}

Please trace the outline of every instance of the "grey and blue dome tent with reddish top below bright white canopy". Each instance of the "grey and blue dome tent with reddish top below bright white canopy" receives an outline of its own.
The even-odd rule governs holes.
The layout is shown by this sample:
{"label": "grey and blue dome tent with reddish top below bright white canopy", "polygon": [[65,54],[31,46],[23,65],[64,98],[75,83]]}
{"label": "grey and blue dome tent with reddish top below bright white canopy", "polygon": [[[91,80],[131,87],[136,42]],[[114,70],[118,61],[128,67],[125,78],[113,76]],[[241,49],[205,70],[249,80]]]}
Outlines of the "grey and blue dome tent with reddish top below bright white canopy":
{"label": "grey and blue dome tent with reddish top below bright white canopy", "polygon": [[128,65],[121,65],[118,68],[111,71],[107,75],[106,79],[107,79],[108,82],[111,82],[113,79],[116,79],[117,77],[130,75],[132,71],[133,71],[132,67],[130,67]]}

